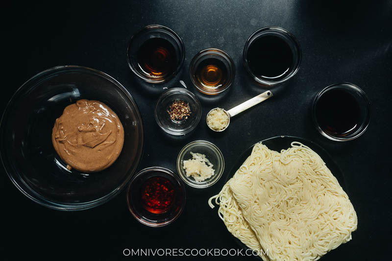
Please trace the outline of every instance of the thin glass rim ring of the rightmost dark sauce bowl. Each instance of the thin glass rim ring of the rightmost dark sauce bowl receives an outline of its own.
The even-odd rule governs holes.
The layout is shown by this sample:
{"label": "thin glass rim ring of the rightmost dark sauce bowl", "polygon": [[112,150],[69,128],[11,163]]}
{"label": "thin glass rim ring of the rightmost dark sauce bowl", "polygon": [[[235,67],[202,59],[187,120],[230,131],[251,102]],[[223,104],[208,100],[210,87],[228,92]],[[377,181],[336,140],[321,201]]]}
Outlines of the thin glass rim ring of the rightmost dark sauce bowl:
{"label": "thin glass rim ring of the rightmost dark sauce bowl", "polygon": [[[319,98],[321,97],[321,95],[325,94],[327,91],[332,90],[332,89],[337,89],[340,86],[342,87],[346,87],[349,88],[351,90],[353,90],[354,92],[356,92],[357,94],[359,94],[365,101],[366,103],[366,110],[368,112],[368,117],[364,119],[363,122],[361,122],[361,128],[357,131],[357,133],[352,136],[352,137],[335,137],[332,136],[326,132],[324,132],[319,124],[318,121],[316,119],[316,105],[319,101]],[[345,142],[345,141],[351,141],[354,140],[358,137],[360,137],[362,134],[364,134],[364,132],[368,129],[369,123],[370,123],[370,118],[371,118],[371,107],[370,107],[370,101],[368,98],[368,95],[361,89],[359,88],[357,85],[349,83],[349,82],[342,82],[342,83],[334,83],[331,85],[328,85],[327,87],[323,88],[321,91],[319,91],[319,93],[317,93],[317,95],[315,96],[315,98],[313,99],[313,103],[312,103],[312,120],[313,120],[313,124],[315,125],[316,129],[319,131],[319,133],[332,140],[332,141],[336,141],[336,142]]]}

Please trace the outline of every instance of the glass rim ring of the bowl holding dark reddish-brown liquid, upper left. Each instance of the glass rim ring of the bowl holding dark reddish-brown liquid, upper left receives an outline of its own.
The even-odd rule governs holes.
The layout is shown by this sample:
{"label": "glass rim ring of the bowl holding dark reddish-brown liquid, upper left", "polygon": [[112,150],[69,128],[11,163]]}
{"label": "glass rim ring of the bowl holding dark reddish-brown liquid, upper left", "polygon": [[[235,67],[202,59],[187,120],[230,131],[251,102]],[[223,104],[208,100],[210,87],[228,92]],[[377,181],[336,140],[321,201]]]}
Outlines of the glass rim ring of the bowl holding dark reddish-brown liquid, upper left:
{"label": "glass rim ring of the bowl holding dark reddish-brown liquid, upper left", "polygon": [[[173,71],[170,75],[166,76],[165,78],[161,78],[161,79],[153,79],[153,78],[148,78],[147,76],[141,74],[139,71],[137,71],[135,69],[135,66],[131,63],[130,59],[129,59],[129,47],[131,46],[131,43],[142,33],[144,33],[145,31],[149,31],[149,30],[153,30],[153,29],[163,29],[165,31],[167,31],[169,34],[171,34],[179,43],[180,45],[180,62],[177,65],[177,68],[175,69],[175,71]],[[131,38],[128,41],[128,45],[126,47],[126,61],[128,63],[128,67],[131,69],[131,71],[138,76],[139,78],[141,78],[142,80],[148,82],[148,83],[164,83],[169,81],[170,79],[172,79],[174,77],[174,75],[176,75],[182,68],[184,61],[185,61],[185,46],[184,43],[181,40],[181,37],[179,37],[179,35],[174,32],[174,30],[172,30],[171,28],[164,26],[164,25],[160,25],[160,24],[149,24],[146,25],[145,27],[141,28],[139,31],[137,31],[135,34],[133,34],[131,36]]]}

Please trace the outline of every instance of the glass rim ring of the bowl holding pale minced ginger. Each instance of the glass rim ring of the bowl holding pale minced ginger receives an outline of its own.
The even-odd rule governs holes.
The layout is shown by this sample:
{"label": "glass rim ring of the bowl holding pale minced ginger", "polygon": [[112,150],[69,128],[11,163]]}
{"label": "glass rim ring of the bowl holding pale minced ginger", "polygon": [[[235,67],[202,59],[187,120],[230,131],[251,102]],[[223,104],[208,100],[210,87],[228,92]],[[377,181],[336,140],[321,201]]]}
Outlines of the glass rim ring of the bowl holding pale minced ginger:
{"label": "glass rim ring of the bowl holding pale minced ginger", "polygon": [[[220,167],[220,171],[216,174],[214,174],[214,176],[212,178],[210,178],[210,182],[209,183],[205,183],[205,184],[198,184],[195,182],[192,182],[190,180],[188,180],[185,177],[185,173],[181,168],[181,160],[183,160],[184,155],[185,155],[185,150],[188,149],[189,147],[192,147],[193,145],[198,145],[198,144],[204,144],[207,145],[208,148],[210,148],[212,151],[214,151],[219,159],[221,159],[221,167]],[[189,186],[196,188],[196,189],[204,189],[204,188],[208,188],[211,187],[212,185],[214,185],[215,183],[217,183],[224,171],[224,157],[223,154],[221,152],[221,150],[218,148],[218,146],[216,146],[214,143],[212,142],[208,142],[208,141],[203,141],[203,140],[197,140],[197,141],[193,141],[193,142],[189,142],[188,144],[186,144],[181,150],[180,153],[178,153],[177,156],[177,172],[179,174],[179,176],[181,177],[181,179],[188,184]]]}

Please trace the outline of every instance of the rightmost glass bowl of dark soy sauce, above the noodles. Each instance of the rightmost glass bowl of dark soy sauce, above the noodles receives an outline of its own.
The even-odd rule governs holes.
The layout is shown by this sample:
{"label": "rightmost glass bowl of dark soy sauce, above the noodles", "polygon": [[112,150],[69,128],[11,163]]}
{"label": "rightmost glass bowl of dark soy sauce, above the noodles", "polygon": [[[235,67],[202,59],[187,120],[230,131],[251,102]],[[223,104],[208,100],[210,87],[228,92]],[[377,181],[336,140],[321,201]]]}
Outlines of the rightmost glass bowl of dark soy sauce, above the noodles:
{"label": "rightmost glass bowl of dark soy sauce, above the noodles", "polygon": [[370,116],[368,96],[352,83],[338,83],[324,88],[312,104],[316,129],[332,141],[358,138],[367,130]]}

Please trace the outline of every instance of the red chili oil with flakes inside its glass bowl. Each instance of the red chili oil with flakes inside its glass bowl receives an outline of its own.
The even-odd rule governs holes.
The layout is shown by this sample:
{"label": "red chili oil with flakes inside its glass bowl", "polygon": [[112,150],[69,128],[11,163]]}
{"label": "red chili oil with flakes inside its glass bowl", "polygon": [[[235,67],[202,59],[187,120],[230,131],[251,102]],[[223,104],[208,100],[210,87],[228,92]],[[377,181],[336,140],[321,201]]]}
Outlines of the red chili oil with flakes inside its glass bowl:
{"label": "red chili oil with flakes inside its glass bowl", "polygon": [[167,212],[174,202],[175,191],[170,180],[155,176],[142,185],[142,206],[148,212],[161,214]]}

